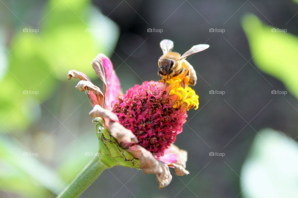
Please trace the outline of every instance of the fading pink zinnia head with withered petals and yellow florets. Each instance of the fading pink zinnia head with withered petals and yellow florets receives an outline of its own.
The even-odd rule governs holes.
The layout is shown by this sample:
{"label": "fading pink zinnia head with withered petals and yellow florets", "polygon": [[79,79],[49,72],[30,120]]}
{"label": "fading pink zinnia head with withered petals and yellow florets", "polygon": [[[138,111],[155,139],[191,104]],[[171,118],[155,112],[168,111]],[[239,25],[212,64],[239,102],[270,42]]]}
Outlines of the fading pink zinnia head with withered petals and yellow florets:
{"label": "fading pink zinnia head with withered petals and yellow florets", "polygon": [[[122,152],[115,154],[109,148],[100,149],[100,152],[107,153],[102,156],[102,162],[109,166],[106,161],[113,161],[112,166],[136,167],[146,174],[156,174],[159,188],[167,186],[172,179],[169,167],[175,169],[176,175],[189,174],[185,170],[187,152],[173,143],[177,134],[182,132],[187,110],[198,107],[194,90],[188,86],[181,87],[182,79],[173,77],[165,83],[145,81],[122,94],[109,58],[98,54],[92,66],[103,81],[103,92],[81,72],[69,71],[68,79],[80,80],[76,88],[86,90],[93,106],[90,116],[104,119],[104,126],[99,128],[108,130]],[[108,147],[106,142],[115,143],[104,136],[100,144]],[[121,157],[125,160],[118,159]]]}

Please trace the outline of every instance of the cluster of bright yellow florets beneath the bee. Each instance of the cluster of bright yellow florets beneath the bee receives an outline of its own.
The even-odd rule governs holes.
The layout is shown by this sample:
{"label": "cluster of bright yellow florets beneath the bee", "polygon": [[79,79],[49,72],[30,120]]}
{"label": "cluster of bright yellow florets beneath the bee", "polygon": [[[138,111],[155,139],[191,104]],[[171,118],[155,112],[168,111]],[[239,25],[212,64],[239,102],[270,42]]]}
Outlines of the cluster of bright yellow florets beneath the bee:
{"label": "cluster of bright yellow florets beneath the bee", "polygon": [[[161,82],[165,82],[165,77],[161,80]],[[186,110],[190,110],[192,108],[198,109],[199,107],[199,96],[196,95],[196,92],[186,84],[186,87],[183,88],[181,86],[182,79],[179,76],[171,77],[166,81],[171,90],[169,95],[176,95],[177,98],[174,101],[174,108],[177,107],[186,107]]]}

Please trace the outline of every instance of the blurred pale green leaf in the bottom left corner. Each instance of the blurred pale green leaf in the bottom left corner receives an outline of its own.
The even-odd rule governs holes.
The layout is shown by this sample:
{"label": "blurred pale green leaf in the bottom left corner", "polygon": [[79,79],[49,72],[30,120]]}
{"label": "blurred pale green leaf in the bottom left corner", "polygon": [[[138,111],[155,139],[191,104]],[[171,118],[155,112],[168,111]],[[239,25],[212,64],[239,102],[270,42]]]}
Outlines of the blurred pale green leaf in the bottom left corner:
{"label": "blurred pale green leaf in the bottom left corner", "polygon": [[49,167],[42,165],[34,154],[24,152],[10,140],[0,140],[2,188],[28,195],[26,197],[46,197],[62,190],[62,180],[54,171],[49,171]]}

